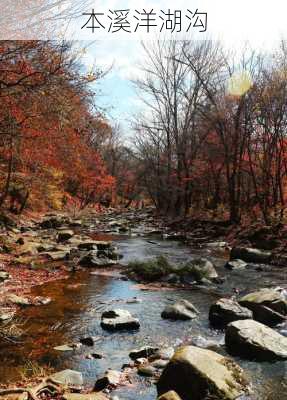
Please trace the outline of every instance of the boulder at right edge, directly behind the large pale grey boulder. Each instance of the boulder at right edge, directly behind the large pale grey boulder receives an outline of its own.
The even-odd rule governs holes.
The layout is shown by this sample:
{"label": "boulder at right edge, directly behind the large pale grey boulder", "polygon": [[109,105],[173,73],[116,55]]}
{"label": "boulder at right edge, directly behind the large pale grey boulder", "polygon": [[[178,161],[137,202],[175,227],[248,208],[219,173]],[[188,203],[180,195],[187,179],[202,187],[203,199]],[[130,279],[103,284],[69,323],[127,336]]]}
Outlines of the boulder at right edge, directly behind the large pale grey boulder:
{"label": "boulder at right edge, directly behind the large pale grey boulder", "polygon": [[256,321],[266,325],[277,325],[286,321],[287,301],[280,291],[261,289],[239,299],[239,304],[253,312]]}

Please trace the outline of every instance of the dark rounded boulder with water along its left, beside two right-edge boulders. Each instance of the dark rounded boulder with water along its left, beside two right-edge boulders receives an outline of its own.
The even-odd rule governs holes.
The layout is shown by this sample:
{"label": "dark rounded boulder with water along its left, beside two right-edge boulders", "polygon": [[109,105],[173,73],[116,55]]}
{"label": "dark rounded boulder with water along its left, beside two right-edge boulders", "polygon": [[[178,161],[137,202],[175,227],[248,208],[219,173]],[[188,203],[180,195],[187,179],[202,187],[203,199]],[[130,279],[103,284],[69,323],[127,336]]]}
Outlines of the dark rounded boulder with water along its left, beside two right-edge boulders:
{"label": "dark rounded boulder with water along its left, beside two right-edge boulders", "polygon": [[209,310],[211,325],[221,328],[239,319],[252,319],[252,311],[231,299],[220,299]]}

